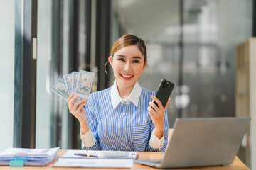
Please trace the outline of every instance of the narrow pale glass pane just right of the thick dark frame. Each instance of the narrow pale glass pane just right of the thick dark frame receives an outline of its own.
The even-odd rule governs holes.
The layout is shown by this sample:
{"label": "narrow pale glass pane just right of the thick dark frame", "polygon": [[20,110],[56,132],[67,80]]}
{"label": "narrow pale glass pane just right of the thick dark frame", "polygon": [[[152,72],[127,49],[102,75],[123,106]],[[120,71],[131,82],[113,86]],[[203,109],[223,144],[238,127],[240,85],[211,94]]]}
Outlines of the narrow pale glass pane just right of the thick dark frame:
{"label": "narrow pale glass pane just right of the thick dark frame", "polygon": [[36,70],[36,148],[50,145],[50,61],[52,2],[38,1],[38,58]]}

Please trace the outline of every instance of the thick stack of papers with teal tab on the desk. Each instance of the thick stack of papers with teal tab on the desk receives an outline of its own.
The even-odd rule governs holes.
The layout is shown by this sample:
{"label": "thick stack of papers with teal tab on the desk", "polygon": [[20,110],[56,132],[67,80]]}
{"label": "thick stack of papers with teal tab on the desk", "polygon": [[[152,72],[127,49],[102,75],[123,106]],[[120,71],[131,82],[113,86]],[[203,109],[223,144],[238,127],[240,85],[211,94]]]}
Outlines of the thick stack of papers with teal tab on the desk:
{"label": "thick stack of papers with teal tab on the desk", "polygon": [[8,148],[0,153],[0,165],[45,166],[57,158],[59,149]]}

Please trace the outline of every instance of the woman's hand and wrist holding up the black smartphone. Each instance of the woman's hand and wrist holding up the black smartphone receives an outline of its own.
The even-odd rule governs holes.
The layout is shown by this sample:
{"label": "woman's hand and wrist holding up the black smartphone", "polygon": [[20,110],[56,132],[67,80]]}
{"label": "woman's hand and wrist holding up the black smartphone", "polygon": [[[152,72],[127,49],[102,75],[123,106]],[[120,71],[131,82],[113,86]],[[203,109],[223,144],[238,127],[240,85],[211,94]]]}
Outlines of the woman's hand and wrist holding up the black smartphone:
{"label": "woman's hand and wrist holding up the black smartphone", "polygon": [[153,100],[156,101],[159,107],[157,107],[155,103],[149,102],[149,107],[147,109],[149,111],[149,115],[151,116],[151,119],[155,126],[154,134],[156,135],[156,137],[161,139],[164,133],[164,113],[171,99],[169,98],[166,103],[166,106],[163,107],[163,105],[161,104],[161,101],[159,101],[158,98],[152,95],[151,95],[151,98],[153,98]]}

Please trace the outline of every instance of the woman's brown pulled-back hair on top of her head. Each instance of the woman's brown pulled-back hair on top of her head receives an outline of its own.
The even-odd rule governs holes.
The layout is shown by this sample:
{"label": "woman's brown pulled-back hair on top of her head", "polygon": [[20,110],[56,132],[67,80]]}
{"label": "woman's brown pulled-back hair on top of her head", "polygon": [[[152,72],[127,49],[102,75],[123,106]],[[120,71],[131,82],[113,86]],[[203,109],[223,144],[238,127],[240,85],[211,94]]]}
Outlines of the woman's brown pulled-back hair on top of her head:
{"label": "woman's brown pulled-back hair on top of her head", "polygon": [[139,51],[142,52],[142,55],[144,55],[144,64],[146,64],[147,55],[146,55],[145,42],[141,38],[138,38],[137,36],[132,34],[124,34],[121,38],[119,38],[116,42],[114,42],[110,55],[114,57],[115,52],[129,45],[137,45],[137,47],[139,48]]}

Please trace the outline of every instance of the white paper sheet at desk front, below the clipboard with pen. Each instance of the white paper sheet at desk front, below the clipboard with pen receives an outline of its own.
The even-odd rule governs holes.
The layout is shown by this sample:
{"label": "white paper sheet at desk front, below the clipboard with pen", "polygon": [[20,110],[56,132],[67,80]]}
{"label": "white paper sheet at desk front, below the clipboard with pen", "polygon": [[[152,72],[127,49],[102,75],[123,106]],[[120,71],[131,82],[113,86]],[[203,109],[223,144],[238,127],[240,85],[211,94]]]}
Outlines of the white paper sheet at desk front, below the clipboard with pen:
{"label": "white paper sheet at desk front, below the clipboard with pen", "polygon": [[132,168],[134,159],[77,159],[59,158],[53,166],[90,168]]}

